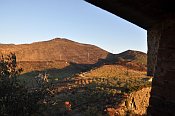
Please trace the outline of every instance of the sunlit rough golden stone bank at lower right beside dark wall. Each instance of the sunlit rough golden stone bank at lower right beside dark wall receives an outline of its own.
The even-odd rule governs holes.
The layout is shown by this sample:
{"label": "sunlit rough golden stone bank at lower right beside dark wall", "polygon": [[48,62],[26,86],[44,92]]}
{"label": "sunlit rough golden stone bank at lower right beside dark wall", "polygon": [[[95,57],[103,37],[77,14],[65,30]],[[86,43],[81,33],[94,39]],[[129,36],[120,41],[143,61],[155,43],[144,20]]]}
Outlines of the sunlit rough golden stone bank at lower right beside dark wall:
{"label": "sunlit rough golden stone bank at lower right beside dark wall", "polygon": [[145,87],[126,95],[116,108],[108,108],[110,116],[146,115],[151,87]]}

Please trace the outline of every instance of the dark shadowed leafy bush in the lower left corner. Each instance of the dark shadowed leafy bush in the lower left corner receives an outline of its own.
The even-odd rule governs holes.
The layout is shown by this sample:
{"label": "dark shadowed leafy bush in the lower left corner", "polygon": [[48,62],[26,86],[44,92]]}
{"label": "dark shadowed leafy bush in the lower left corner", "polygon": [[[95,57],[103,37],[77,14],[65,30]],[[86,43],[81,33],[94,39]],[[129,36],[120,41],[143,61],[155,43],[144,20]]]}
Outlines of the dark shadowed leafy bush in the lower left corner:
{"label": "dark shadowed leafy bush in the lower left corner", "polygon": [[31,115],[38,111],[46,94],[45,88],[29,90],[20,84],[22,69],[16,65],[15,54],[0,58],[0,115]]}

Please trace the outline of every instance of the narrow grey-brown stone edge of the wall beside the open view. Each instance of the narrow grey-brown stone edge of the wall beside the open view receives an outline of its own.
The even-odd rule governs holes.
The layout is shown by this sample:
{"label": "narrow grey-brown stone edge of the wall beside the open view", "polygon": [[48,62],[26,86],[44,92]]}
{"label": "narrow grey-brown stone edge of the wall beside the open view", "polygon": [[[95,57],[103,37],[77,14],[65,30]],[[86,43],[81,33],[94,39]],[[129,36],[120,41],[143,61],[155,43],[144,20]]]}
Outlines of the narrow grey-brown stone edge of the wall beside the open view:
{"label": "narrow grey-brown stone edge of the wall beside the open view", "polygon": [[148,76],[153,76],[154,74],[160,37],[161,37],[160,25],[156,25],[147,31],[147,42],[148,42],[147,75]]}

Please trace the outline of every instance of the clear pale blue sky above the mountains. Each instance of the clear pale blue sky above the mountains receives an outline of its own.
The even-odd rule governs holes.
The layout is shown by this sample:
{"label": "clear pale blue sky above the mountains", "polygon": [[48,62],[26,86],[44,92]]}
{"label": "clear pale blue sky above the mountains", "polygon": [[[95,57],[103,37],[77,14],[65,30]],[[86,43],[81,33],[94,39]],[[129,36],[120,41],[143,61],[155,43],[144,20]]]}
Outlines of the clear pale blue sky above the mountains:
{"label": "clear pale blue sky above the mountains", "polygon": [[84,0],[0,0],[0,43],[67,38],[112,53],[147,52],[146,30]]}

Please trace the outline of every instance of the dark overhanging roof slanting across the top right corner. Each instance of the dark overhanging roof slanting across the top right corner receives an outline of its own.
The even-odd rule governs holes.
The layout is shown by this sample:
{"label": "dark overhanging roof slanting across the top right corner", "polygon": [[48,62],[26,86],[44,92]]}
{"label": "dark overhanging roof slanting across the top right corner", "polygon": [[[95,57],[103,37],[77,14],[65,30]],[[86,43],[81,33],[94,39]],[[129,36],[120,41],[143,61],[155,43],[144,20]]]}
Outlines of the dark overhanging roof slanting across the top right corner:
{"label": "dark overhanging roof slanting across the top right corner", "polygon": [[146,30],[174,14],[173,0],[85,0]]}

